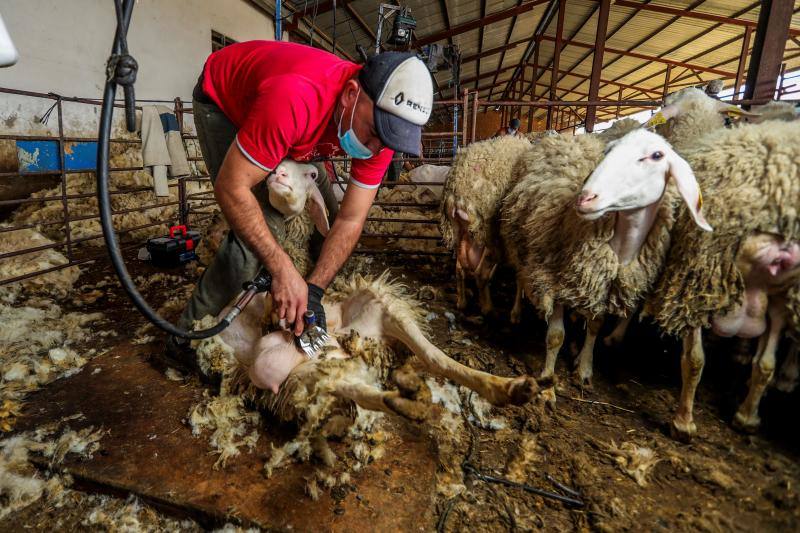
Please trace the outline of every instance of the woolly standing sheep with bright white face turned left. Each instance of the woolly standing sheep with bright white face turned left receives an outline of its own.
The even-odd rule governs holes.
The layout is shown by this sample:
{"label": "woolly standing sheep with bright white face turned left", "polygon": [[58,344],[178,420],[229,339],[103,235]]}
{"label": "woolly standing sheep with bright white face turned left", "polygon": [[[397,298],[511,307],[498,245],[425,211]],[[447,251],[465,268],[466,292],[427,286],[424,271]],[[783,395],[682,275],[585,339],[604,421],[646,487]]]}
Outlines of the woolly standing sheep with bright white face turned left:
{"label": "woolly standing sheep with bright white face turned left", "polygon": [[[607,145],[633,139],[641,144],[628,152],[636,164],[621,164],[615,154],[624,150],[603,158]],[[524,290],[548,322],[542,377],[555,370],[564,307],[583,315],[578,377],[588,383],[604,316],[629,318],[658,277],[679,197],[708,229],[696,209],[697,183],[672,147],[635,121],[601,135],[545,139],[519,166],[523,177],[501,208],[501,234],[518,277],[514,313]]]}

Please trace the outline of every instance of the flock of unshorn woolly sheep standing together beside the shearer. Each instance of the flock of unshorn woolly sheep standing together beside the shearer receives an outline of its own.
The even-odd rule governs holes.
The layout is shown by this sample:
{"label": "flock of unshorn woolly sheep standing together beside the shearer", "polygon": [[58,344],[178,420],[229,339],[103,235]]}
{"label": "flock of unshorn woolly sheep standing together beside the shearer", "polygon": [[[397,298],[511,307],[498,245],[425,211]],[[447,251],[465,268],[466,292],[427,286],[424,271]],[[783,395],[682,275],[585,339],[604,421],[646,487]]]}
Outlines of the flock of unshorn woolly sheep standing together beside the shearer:
{"label": "flock of unshorn woolly sheep standing together beside the shearer", "polygon": [[[738,123],[726,127],[726,117]],[[618,320],[608,344],[622,341],[637,312],[680,337],[683,385],[672,429],[690,438],[704,329],[759,339],[734,421],[750,431],[759,425],[782,335],[800,333],[798,206],[793,106],[745,113],[690,88],[645,125],[625,119],[598,134],[467,146],[448,176],[440,226],[457,258],[460,308],[466,277],[488,313],[497,266],[514,269],[511,321],[519,321],[523,297],[547,321],[543,377],[553,375],[566,309],[586,320],[583,383],[606,317]],[[796,347],[790,353],[794,359]],[[796,365],[787,359],[785,368],[796,376]]]}

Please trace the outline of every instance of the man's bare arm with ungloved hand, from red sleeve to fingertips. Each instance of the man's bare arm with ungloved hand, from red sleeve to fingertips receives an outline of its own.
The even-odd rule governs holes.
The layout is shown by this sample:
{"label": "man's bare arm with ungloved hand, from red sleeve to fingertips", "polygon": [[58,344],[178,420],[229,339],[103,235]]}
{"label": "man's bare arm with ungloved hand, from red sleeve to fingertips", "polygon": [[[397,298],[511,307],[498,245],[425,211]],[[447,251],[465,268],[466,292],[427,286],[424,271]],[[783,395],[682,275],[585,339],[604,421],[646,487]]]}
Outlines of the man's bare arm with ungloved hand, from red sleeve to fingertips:
{"label": "man's bare arm with ungloved hand, from red sleeve to fingertips", "polygon": [[250,162],[233,143],[217,175],[214,196],[236,236],[272,275],[272,297],[278,317],[285,318],[287,324],[294,324],[295,334],[300,335],[308,286],[269,230],[251,190],[266,176],[267,172]]}

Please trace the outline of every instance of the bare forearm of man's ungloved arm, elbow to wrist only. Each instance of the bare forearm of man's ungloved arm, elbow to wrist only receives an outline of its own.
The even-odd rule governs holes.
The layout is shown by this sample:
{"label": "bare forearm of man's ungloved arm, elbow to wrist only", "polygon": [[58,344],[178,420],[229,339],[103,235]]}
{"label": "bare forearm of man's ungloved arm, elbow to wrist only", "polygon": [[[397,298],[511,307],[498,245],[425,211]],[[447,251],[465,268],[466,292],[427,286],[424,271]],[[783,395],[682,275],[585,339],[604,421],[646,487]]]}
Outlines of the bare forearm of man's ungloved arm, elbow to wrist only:
{"label": "bare forearm of man's ungloved arm, elbow to wrist only", "polygon": [[214,195],[231,229],[267,270],[277,272],[287,261],[291,261],[269,230],[261,206],[250,189],[215,187]]}

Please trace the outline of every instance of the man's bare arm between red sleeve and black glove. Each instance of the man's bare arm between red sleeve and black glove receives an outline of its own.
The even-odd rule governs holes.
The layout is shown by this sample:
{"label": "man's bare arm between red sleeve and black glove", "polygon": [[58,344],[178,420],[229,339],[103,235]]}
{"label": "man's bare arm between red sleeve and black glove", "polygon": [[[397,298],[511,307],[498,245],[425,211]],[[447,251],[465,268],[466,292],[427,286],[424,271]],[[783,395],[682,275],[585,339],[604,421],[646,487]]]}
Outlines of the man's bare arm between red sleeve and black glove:
{"label": "man's bare arm between red sleeve and black glove", "polygon": [[322,245],[317,266],[308,278],[310,283],[325,288],[342,268],[361,236],[377,192],[377,188],[366,189],[353,184],[347,187],[333,227]]}

